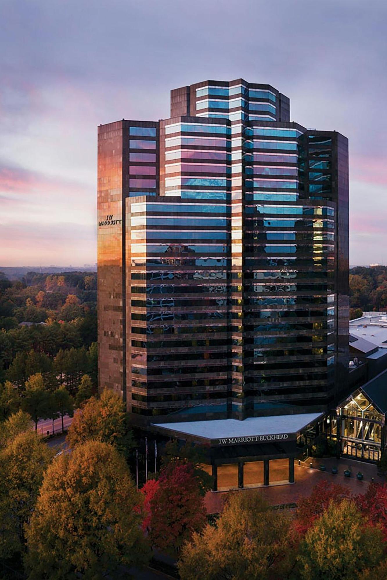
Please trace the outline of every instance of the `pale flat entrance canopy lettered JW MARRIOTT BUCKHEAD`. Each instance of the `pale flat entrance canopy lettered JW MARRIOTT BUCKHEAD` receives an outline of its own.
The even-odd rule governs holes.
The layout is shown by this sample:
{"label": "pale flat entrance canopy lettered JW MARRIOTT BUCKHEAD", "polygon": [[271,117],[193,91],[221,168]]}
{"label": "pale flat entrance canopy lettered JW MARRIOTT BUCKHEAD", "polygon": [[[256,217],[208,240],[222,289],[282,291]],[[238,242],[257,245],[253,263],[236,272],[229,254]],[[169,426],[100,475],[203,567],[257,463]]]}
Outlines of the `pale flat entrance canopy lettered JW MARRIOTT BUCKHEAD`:
{"label": "pale flat entrance canopy lettered JW MARRIOTT BUCKHEAD", "polygon": [[169,437],[200,439],[210,445],[239,445],[295,439],[323,413],[271,415],[238,419],[215,419],[181,423],[153,423],[153,429]]}

